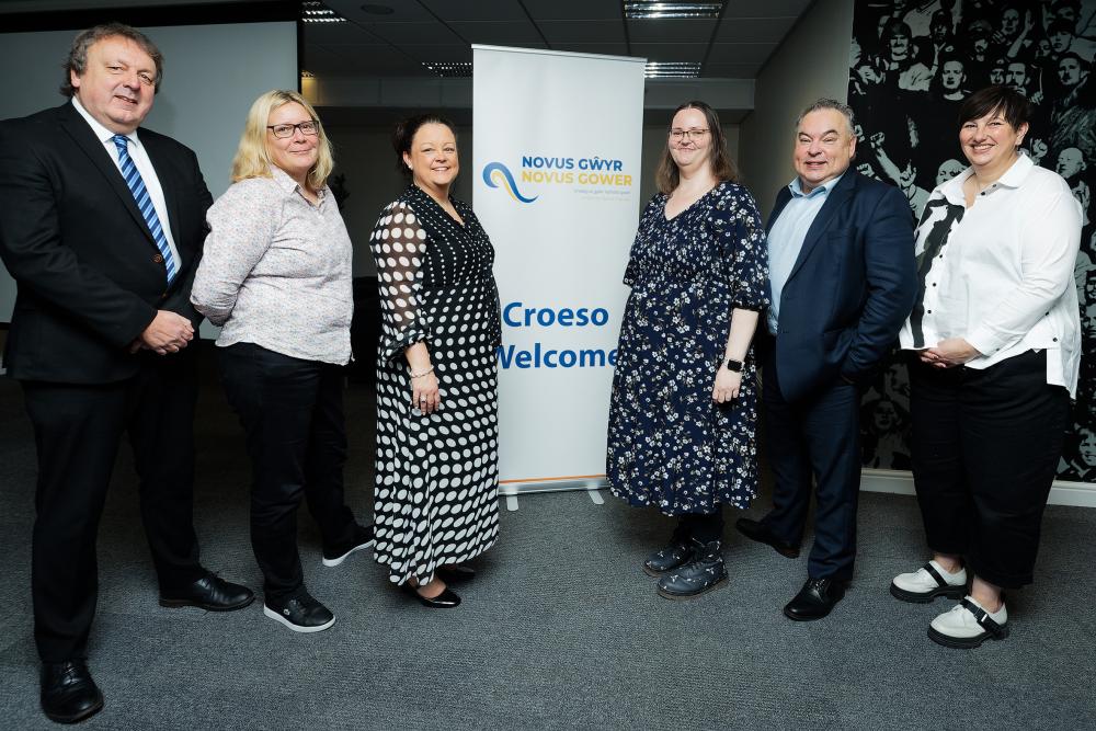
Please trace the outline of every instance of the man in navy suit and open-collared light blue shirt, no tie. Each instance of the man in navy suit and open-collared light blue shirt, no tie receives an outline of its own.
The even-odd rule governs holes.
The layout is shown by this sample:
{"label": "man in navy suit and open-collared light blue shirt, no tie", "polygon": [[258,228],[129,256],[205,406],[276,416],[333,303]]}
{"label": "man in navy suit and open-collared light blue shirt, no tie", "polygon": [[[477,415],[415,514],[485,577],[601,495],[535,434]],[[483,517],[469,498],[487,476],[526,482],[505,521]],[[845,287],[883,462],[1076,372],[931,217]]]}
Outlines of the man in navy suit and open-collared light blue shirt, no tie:
{"label": "man in navy suit and open-collared light blue shirt, no tie", "polygon": [[796,128],[798,176],[768,221],[773,305],[761,366],[774,507],[739,530],[789,558],[818,510],[808,580],[784,608],[826,616],[856,553],[860,386],[897,340],[917,290],[913,227],[898,189],[849,169],[853,111],[819,100]]}

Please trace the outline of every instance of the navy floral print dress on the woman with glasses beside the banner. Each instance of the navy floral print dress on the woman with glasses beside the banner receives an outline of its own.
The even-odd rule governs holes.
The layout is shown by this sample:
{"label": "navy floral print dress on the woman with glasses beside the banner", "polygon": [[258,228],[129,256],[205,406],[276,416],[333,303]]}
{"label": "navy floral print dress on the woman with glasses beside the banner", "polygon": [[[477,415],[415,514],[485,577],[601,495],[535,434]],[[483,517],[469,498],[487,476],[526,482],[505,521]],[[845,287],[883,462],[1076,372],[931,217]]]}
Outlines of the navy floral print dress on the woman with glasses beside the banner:
{"label": "navy floral print dress on the woman with glasses beside the banner", "polygon": [[753,350],[737,399],[717,404],[711,387],[731,311],[768,306],[765,230],[735,183],[670,220],[666,198],[655,195],[643,212],[625,272],[631,295],[609,407],[609,490],[666,515],[745,507],[757,493]]}

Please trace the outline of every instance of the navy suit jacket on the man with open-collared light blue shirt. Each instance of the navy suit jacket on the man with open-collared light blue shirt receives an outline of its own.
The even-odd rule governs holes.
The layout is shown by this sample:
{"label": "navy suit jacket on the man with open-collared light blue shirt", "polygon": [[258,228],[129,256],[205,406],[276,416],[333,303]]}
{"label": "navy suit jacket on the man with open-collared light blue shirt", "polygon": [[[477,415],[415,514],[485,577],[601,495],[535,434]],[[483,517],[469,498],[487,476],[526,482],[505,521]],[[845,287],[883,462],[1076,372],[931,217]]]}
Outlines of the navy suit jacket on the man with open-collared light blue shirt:
{"label": "navy suit jacket on the man with open-collared light blue shirt", "polygon": [[[791,198],[776,196],[767,229]],[[800,399],[844,377],[868,378],[898,339],[917,293],[910,204],[847,170],[803,240],[780,296],[780,392]]]}

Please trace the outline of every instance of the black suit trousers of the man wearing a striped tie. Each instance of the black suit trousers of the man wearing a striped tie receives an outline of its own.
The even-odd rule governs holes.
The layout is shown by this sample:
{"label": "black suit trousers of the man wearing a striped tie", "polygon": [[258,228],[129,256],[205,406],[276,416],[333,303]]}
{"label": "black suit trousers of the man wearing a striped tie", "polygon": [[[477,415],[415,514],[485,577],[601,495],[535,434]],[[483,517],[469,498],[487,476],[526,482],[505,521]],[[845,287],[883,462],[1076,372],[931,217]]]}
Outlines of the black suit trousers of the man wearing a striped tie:
{"label": "black suit trousers of the man wearing a striped tie", "polygon": [[31,593],[43,662],[87,655],[99,593],[95,539],[124,434],[160,591],[204,575],[193,524],[194,353],[140,353],[140,370],[105,385],[23,381],[38,456]]}

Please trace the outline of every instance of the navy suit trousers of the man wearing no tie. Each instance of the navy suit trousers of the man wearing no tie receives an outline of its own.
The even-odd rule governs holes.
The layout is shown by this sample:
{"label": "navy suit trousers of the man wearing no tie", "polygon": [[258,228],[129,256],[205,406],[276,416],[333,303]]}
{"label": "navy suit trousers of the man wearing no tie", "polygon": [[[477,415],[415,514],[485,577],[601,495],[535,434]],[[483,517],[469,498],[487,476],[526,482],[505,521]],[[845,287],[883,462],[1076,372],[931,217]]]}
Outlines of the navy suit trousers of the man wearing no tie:
{"label": "navy suit trousers of the man wearing no tie", "polygon": [[813,484],[818,509],[807,573],[848,581],[856,559],[860,494],[859,389],[834,378],[803,399],[787,401],[775,350],[761,349],[765,436],[776,478],[773,510],[763,522],[781,540],[798,545]]}

